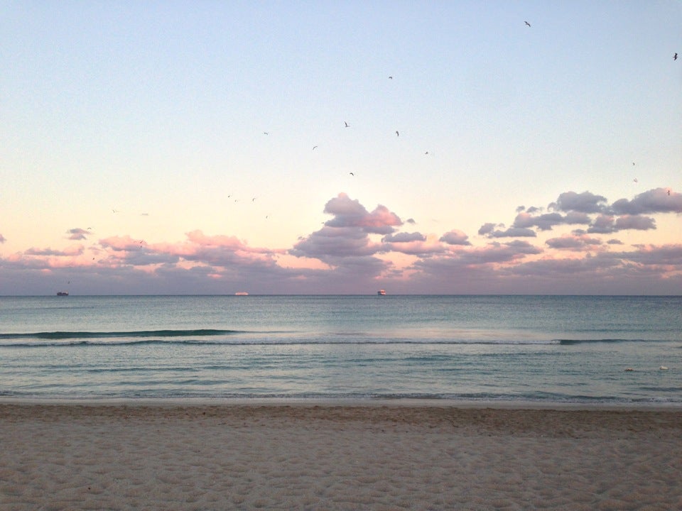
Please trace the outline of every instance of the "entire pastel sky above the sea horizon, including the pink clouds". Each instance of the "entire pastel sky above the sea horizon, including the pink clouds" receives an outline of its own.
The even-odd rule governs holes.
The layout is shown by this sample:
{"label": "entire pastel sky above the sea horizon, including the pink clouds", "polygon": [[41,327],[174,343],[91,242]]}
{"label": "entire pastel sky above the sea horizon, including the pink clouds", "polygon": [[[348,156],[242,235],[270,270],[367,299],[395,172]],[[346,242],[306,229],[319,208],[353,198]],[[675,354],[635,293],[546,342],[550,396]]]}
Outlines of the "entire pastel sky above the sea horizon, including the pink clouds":
{"label": "entire pastel sky above the sea horizon, including the pink clouds", "polygon": [[679,295],[681,27],[0,0],[0,295]]}

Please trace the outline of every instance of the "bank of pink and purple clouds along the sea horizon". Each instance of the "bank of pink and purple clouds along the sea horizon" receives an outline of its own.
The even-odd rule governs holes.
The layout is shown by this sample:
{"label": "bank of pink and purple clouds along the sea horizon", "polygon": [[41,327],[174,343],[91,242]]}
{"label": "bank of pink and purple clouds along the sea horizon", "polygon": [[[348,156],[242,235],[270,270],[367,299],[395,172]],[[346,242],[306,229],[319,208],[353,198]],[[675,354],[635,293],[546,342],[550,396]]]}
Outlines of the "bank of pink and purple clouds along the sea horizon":
{"label": "bank of pink and purple clouds along the sea horizon", "polygon": [[[5,295],[52,294],[71,282],[81,294],[612,293],[678,294],[682,243],[627,246],[623,231],[656,230],[659,215],[682,214],[682,194],[656,188],[608,202],[563,192],[546,207],[518,207],[509,227],[486,222],[475,239],[452,226],[414,231],[384,204],[369,210],[345,193],[332,197],[323,226],[288,248],[250,246],[196,229],[176,242],[126,234],[87,244],[31,247],[0,256]],[[410,213],[410,211],[406,211]],[[552,233],[558,231],[556,235]],[[0,243],[4,237],[0,236]]]}

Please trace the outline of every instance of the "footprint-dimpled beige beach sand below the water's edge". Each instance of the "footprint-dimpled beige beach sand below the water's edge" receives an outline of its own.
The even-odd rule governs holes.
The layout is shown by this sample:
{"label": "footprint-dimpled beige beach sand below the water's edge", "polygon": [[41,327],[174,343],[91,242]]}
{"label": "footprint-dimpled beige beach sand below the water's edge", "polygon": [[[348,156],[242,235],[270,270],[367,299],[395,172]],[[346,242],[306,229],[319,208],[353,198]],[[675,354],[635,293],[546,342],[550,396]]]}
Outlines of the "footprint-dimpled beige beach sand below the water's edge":
{"label": "footprint-dimpled beige beach sand below the water's edge", "polygon": [[0,509],[679,510],[681,410],[0,404]]}

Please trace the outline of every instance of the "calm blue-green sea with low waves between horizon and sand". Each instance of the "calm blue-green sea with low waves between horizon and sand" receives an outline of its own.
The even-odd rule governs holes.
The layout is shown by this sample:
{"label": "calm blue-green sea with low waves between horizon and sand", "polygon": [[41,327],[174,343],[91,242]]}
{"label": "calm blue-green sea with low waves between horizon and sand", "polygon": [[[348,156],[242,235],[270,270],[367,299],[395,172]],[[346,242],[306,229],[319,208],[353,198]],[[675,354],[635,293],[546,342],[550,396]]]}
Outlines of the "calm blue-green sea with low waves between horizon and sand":
{"label": "calm blue-green sea with low waves between horizon and sand", "polygon": [[682,405],[682,297],[0,297],[0,397]]}

